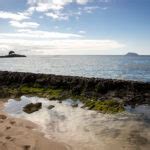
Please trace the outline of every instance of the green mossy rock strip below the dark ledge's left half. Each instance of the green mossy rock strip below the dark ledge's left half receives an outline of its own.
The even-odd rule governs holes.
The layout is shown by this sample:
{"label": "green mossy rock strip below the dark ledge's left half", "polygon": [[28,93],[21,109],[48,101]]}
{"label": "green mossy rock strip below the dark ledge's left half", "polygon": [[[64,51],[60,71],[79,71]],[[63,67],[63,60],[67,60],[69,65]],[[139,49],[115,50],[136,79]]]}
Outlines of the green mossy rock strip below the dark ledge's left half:
{"label": "green mossy rock strip below the dark ledge's left half", "polygon": [[44,97],[49,100],[66,99],[70,96],[68,91],[62,89],[53,89],[50,87],[0,87],[0,98],[19,98],[22,95]]}

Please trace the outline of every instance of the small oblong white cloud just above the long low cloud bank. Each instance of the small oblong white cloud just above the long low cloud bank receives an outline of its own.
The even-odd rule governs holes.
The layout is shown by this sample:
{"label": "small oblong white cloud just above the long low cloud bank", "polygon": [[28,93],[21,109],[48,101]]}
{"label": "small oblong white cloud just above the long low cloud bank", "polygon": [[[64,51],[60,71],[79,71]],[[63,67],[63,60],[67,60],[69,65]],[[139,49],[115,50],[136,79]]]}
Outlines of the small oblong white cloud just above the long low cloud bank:
{"label": "small oblong white cloud just above the long low cloud bank", "polygon": [[39,26],[36,22],[18,22],[18,21],[10,21],[11,26],[16,28],[32,28],[35,29]]}

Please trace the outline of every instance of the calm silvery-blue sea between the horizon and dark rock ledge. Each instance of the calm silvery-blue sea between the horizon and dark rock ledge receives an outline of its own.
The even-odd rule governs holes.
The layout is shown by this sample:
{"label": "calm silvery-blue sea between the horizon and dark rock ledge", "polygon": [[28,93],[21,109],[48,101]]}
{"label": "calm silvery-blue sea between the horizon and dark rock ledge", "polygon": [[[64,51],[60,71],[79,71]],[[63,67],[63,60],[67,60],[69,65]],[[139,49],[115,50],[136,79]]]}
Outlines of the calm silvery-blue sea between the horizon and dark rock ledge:
{"label": "calm silvery-blue sea between the horizon and dark rock ledge", "polygon": [[0,58],[0,70],[150,82],[150,56],[28,56]]}

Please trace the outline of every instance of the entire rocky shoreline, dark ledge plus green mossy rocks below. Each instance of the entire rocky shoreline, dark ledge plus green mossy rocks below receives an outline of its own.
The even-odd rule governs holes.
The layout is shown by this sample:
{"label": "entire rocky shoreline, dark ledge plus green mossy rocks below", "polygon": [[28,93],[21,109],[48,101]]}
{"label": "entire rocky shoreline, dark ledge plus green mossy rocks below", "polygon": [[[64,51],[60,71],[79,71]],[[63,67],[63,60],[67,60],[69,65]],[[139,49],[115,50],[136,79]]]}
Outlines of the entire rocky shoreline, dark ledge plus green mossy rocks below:
{"label": "entire rocky shoreline, dark ledge plus green mossy rocks below", "polygon": [[80,99],[89,108],[98,110],[103,108],[96,105],[105,106],[104,102],[108,100],[110,103],[107,102],[107,105],[117,108],[122,105],[134,107],[141,104],[150,105],[150,83],[0,71],[0,98],[17,98],[21,95],[46,97],[50,100]]}

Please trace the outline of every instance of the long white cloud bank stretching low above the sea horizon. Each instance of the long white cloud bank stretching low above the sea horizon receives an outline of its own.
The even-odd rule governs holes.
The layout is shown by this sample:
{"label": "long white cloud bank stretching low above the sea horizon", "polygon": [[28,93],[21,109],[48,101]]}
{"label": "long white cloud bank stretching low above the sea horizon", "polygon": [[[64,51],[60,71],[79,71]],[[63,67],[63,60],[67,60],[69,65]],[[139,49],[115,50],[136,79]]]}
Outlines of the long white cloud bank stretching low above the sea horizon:
{"label": "long white cloud bank stretching low above the sea horizon", "polygon": [[29,54],[89,54],[124,47],[115,40],[90,40],[82,37],[72,33],[20,29],[18,33],[0,33],[0,48],[5,51],[28,50]]}

